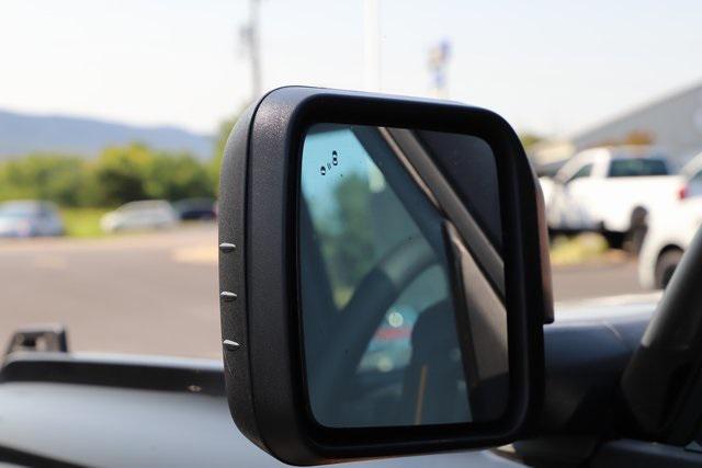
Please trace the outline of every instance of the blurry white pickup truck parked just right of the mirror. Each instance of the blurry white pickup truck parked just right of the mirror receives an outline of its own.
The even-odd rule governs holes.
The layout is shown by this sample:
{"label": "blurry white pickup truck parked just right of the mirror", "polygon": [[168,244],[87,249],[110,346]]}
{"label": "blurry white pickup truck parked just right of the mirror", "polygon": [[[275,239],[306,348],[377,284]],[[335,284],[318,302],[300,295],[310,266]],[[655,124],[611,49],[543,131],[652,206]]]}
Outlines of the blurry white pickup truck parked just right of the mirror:
{"label": "blurry white pickup truck parked just right of the mirror", "polygon": [[548,228],[601,232],[612,247],[621,247],[645,227],[652,209],[678,197],[683,181],[672,173],[666,158],[649,148],[581,151],[555,178],[541,179]]}

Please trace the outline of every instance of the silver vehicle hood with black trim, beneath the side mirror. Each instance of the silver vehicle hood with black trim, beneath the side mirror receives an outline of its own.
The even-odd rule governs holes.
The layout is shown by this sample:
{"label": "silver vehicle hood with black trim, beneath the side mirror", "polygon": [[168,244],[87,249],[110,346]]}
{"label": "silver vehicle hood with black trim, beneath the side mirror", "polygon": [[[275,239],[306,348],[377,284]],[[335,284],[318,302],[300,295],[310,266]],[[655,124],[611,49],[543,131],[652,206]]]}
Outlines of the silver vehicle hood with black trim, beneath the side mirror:
{"label": "silver vehicle hood with black trim, beneath the side mirror", "polygon": [[[101,370],[94,372],[97,368]],[[160,384],[148,381],[144,377],[148,374],[158,375]],[[118,386],[122,379],[133,380]],[[224,396],[220,363],[170,358],[64,353],[12,356],[0,372],[0,446],[78,466],[287,466],[254,446],[235,426]],[[521,466],[490,452],[349,466],[429,465]]]}

